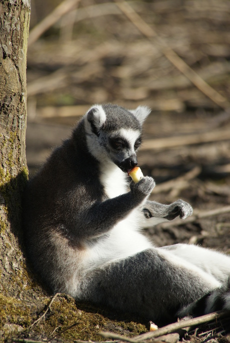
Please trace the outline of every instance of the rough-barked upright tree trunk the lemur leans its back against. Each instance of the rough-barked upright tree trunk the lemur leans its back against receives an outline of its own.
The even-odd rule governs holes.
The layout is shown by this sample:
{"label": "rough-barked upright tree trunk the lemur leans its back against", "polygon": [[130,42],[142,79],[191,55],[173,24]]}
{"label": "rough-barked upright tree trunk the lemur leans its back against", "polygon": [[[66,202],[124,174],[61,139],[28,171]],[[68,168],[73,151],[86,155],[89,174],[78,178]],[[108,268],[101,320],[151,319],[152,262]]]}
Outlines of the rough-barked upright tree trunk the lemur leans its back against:
{"label": "rough-barked upright tree trunk the lemur leans its back against", "polygon": [[[0,336],[19,327],[28,299],[21,245],[25,159],[26,53],[29,0],[0,1]],[[23,304],[22,304],[23,303]],[[10,323],[10,324],[9,324]],[[9,326],[11,328],[9,329]],[[15,328],[14,328],[15,329]],[[18,328],[17,328],[18,329]]]}

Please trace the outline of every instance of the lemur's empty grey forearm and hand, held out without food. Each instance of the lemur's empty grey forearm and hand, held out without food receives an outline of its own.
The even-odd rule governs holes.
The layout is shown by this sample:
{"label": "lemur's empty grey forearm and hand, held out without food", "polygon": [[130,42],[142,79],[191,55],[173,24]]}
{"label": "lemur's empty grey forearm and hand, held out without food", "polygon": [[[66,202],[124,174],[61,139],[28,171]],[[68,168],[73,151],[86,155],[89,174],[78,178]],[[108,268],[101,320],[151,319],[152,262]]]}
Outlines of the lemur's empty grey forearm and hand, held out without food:
{"label": "lemur's empty grey forearm and hand, held out without food", "polygon": [[159,204],[147,200],[142,208],[143,216],[146,219],[144,225],[151,226],[179,216],[185,219],[192,214],[192,207],[183,200],[177,200],[170,205]]}

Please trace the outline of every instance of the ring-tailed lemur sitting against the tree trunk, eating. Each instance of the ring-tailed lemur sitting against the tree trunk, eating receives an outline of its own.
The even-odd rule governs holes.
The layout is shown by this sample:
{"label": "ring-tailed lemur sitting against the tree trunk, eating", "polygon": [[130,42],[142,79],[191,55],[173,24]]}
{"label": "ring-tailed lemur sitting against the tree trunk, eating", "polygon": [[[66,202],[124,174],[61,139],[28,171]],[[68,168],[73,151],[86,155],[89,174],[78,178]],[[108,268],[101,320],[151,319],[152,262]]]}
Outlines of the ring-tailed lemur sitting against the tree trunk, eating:
{"label": "ring-tailed lemur sitting against the tree trunk, eating", "polygon": [[154,322],[230,310],[230,258],[193,245],[156,248],[140,228],[191,215],[182,200],[147,198],[151,177],[127,183],[149,109],[94,105],[28,183],[28,257],[53,292]]}

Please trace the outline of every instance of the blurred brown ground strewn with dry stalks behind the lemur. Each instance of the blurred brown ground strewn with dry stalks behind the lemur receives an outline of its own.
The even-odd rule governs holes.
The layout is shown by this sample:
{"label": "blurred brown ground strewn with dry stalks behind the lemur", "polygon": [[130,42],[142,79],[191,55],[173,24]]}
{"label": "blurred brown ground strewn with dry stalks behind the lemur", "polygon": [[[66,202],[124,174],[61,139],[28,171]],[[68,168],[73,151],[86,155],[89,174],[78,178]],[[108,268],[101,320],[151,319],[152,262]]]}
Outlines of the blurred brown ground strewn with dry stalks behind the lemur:
{"label": "blurred brown ground strewn with dry stalks behind the lemur", "polygon": [[[114,2],[82,0],[78,14],[63,16],[29,46],[30,175],[91,104],[146,104],[152,112],[144,124],[138,164],[156,181],[151,198],[162,203],[182,198],[196,217],[159,224],[145,234],[157,246],[194,243],[230,253],[230,2],[131,4],[156,37],[144,37]],[[34,8],[39,21],[42,11],[36,1]],[[205,95],[205,85],[198,89],[168,60],[162,44],[225,100]],[[221,334],[215,337],[221,330],[213,328],[184,340],[223,342]],[[226,332],[222,335],[227,342]]]}

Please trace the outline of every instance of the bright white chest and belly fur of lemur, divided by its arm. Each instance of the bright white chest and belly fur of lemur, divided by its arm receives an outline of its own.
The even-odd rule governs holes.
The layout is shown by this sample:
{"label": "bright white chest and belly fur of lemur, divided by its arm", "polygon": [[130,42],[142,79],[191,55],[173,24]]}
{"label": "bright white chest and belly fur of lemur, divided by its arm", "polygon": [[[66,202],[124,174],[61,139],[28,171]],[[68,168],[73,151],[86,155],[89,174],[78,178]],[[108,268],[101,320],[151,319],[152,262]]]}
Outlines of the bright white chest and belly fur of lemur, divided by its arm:
{"label": "bright white chest and belly fur of lemur, divided by its arm", "polygon": [[[114,164],[106,163],[101,166],[100,182],[109,198],[127,192],[127,177]],[[84,273],[150,248],[150,242],[139,232],[140,222],[139,209],[133,209],[106,236],[102,236],[94,244],[89,243],[82,264]]]}

